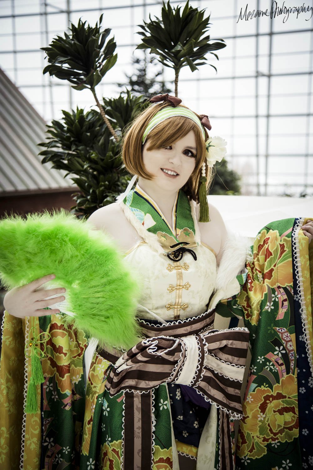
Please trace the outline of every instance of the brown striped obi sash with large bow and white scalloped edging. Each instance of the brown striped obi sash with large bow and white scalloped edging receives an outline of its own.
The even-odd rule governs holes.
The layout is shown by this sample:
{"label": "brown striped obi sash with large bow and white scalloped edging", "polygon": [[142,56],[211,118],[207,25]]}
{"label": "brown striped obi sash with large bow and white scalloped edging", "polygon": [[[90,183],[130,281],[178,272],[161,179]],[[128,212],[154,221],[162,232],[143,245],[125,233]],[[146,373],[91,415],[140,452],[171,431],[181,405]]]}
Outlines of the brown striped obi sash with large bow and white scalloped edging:
{"label": "brown striped obi sash with large bow and white scalloped edging", "polygon": [[[213,329],[214,316],[212,309],[165,325],[140,319],[145,339],[122,356],[117,350],[99,352],[115,364],[106,382],[110,395],[124,391],[128,426],[124,428],[123,462],[127,462],[127,470],[151,468],[153,408],[157,406],[153,389],[165,383],[192,386],[218,408],[221,468],[233,468],[229,423],[230,418],[242,416],[240,389],[249,332],[245,328]],[[140,423],[140,443],[131,425],[134,420]]]}

